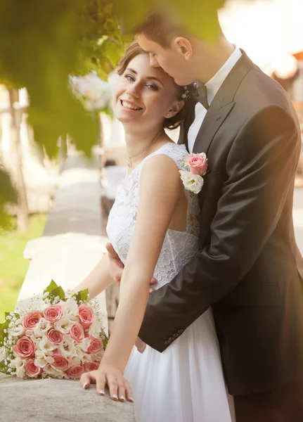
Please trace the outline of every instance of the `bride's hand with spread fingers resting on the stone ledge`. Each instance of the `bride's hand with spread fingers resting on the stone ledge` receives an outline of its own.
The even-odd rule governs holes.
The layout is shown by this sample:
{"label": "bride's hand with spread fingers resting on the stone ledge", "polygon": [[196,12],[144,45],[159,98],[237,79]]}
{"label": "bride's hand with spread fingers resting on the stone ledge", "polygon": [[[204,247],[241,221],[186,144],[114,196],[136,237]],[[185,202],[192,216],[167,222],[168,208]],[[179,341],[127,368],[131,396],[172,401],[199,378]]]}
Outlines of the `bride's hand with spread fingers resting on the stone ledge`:
{"label": "bride's hand with spread fingers resting on the stone ledge", "polygon": [[91,384],[96,384],[99,395],[105,395],[105,386],[107,385],[112,400],[125,402],[125,398],[127,398],[129,402],[134,402],[129,382],[115,366],[101,364],[96,371],[83,373],[80,384],[84,389],[89,388]]}

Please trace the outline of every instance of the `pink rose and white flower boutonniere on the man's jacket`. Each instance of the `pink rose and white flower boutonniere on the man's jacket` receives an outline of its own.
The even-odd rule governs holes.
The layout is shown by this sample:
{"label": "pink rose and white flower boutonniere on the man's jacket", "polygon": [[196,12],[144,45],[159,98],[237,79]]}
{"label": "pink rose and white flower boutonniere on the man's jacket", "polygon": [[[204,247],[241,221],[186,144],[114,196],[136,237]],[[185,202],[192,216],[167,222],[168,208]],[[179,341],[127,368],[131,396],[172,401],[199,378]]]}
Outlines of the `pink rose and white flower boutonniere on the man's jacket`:
{"label": "pink rose and white flower boutonniere on the man's jacket", "polygon": [[207,158],[205,153],[186,155],[183,170],[179,170],[181,180],[187,191],[199,193],[204,184],[203,176],[207,172]]}

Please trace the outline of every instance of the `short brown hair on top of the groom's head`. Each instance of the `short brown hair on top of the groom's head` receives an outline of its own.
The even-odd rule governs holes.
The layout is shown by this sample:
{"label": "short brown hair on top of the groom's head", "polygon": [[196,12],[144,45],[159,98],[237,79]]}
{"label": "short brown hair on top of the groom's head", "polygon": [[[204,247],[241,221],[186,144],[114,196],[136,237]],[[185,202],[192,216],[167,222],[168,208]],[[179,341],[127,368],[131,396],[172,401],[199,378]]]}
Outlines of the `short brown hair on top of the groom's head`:
{"label": "short brown hair on top of the groom's head", "polygon": [[136,27],[136,34],[143,34],[168,49],[174,37],[186,37],[188,32],[183,25],[170,18],[168,13],[152,11],[148,13],[146,20]]}

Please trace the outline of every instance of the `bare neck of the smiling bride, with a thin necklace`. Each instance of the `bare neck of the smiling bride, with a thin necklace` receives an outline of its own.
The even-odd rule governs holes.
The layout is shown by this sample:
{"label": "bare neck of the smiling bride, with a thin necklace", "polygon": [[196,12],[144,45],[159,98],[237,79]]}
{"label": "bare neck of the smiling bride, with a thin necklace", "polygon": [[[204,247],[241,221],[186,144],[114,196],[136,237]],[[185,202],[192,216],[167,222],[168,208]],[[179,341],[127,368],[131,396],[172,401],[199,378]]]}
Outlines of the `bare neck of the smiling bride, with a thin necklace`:
{"label": "bare neck of the smiling bride, with a thin necklace", "polygon": [[[165,134],[164,129],[161,127],[156,127],[145,131],[142,129],[139,131],[134,131],[124,127],[124,132],[125,141],[127,143],[128,157],[132,157],[133,155],[138,154],[136,157],[131,159],[133,167],[136,167],[136,165],[138,165],[138,163],[141,162],[143,158],[146,158],[150,152],[152,152],[154,149],[157,149],[157,143],[163,141],[162,134]],[[157,141],[153,143],[153,140],[155,140],[155,137],[157,136],[159,136]],[[150,148],[148,148],[149,146]],[[146,149],[146,151],[144,151],[142,154],[139,154],[140,151],[143,151],[144,149]]]}

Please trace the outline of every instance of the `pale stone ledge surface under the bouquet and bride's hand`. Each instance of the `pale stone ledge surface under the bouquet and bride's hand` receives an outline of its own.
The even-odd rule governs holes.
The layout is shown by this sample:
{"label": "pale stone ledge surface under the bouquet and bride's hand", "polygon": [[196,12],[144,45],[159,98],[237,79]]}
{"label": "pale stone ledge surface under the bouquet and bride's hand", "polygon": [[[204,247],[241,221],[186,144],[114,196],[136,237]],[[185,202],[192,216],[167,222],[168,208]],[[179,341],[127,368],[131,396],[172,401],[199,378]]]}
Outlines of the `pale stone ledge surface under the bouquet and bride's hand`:
{"label": "pale stone ledge surface under the bouquet and bride's hand", "polygon": [[20,380],[0,374],[1,421],[135,422],[134,405],[101,397],[72,380]]}

